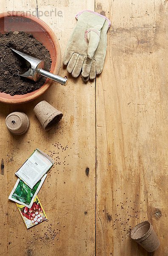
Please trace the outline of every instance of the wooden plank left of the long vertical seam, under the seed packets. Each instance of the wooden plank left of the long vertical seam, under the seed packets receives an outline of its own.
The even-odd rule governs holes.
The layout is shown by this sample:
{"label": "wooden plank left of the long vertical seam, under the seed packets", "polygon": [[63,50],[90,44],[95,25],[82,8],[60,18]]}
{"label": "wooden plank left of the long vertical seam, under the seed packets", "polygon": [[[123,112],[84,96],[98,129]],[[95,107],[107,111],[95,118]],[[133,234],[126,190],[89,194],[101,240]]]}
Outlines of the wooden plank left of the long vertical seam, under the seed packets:
{"label": "wooden plank left of the long vertical seam, under the seed packets", "polygon": [[[37,7],[39,14],[55,8],[62,11],[62,17],[41,16],[59,38],[62,52],[76,24],[76,13],[94,8],[93,1],[62,1],[59,4],[52,0],[38,0],[37,5],[36,1],[8,2],[0,7],[0,12],[6,9],[29,9],[32,12]],[[64,76],[67,72],[62,68],[59,74]],[[66,88],[54,84],[34,102],[17,106],[0,104],[0,155],[5,165],[4,175],[0,177],[1,255],[95,254],[95,87],[91,83],[84,85],[81,78],[69,78]],[[32,112],[43,99],[64,113],[62,121],[49,132],[42,130]],[[30,117],[27,134],[17,137],[7,131],[5,118],[12,111],[23,111]],[[55,165],[39,192],[49,221],[27,231],[16,205],[8,202],[8,195],[17,180],[14,172],[35,148],[50,154]],[[88,175],[85,172],[87,167],[90,169]],[[55,240],[48,225],[52,232],[58,229]],[[40,237],[44,240],[41,241]]]}

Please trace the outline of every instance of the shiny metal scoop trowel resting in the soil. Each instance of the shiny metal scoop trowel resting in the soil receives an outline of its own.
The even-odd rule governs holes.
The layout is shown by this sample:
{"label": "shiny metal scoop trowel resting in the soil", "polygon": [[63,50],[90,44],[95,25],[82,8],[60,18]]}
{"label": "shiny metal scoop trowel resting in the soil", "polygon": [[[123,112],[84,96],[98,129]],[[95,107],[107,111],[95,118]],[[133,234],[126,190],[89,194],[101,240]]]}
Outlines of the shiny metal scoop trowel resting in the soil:
{"label": "shiny metal scoop trowel resting in the soil", "polygon": [[29,70],[27,72],[25,72],[24,74],[19,75],[19,76],[23,76],[28,79],[34,80],[34,81],[38,81],[40,76],[45,76],[48,79],[51,79],[59,84],[62,84],[64,86],[67,85],[68,79],[66,77],[63,78],[61,76],[57,76],[57,75],[54,75],[46,70],[43,70],[43,68],[45,66],[45,61],[41,61],[37,58],[31,57],[25,53],[19,52],[12,48],[11,48],[11,50],[16,52],[22,58],[24,58],[27,66],[29,67]]}

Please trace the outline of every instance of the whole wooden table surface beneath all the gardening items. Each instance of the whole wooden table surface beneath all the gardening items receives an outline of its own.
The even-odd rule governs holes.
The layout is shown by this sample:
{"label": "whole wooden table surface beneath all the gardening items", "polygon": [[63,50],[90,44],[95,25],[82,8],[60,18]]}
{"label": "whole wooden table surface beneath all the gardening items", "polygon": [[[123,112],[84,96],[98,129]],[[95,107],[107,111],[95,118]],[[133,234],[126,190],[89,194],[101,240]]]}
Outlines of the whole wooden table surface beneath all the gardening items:
{"label": "whole wooden table surface beneath all the gardening items", "polygon": [[[59,39],[62,54],[75,15],[84,9],[112,21],[101,76],[83,84],[81,77],[68,75],[66,88],[54,84],[33,102],[0,104],[1,256],[168,255],[168,0],[0,4],[0,12],[38,10]],[[53,12],[47,17],[45,11]],[[64,67],[59,75],[67,75]],[[33,113],[44,99],[64,113],[49,132]],[[22,136],[5,126],[13,111],[30,117],[30,129]],[[8,195],[17,180],[14,172],[35,148],[55,161],[38,194],[49,221],[26,230]],[[130,238],[131,228],[144,220],[160,239],[154,253]],[[55,240],[53,229],[58,231]]]}

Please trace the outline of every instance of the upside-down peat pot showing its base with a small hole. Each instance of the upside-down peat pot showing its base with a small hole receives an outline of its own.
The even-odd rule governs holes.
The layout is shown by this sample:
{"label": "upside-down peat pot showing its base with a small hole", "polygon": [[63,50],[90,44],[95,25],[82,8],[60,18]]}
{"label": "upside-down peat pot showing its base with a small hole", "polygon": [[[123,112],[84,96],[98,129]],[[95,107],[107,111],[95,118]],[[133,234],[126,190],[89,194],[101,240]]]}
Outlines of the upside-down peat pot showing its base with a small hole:
{"label": "upside-down peat pot showing its base with a small hole", "polygon": [[6,117],[6,126],[13,134],[24,134],[28,131],[30,120],[23,112],[13,112]]}

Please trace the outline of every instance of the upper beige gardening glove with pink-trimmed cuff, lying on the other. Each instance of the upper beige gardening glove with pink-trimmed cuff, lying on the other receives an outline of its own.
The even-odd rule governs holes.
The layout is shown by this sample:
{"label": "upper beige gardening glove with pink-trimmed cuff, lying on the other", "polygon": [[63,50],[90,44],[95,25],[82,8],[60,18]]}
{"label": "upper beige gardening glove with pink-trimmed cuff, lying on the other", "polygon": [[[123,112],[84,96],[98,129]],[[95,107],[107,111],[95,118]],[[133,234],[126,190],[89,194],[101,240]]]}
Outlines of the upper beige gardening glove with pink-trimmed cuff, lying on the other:
{"label": "upper beige gardening glove with pink-trimmed cuff, lying on the other", "polygon": [[92,11],[83,11],[76,15],[76,19],[78,21],[63,58],[63,64],[67,65],[67,71],[73,77],[79,76],[84,63],[90,63],[91,66],[106,17]]}

